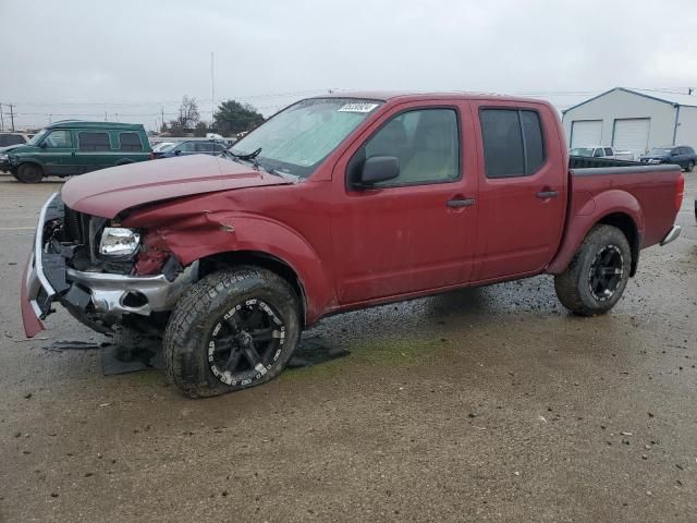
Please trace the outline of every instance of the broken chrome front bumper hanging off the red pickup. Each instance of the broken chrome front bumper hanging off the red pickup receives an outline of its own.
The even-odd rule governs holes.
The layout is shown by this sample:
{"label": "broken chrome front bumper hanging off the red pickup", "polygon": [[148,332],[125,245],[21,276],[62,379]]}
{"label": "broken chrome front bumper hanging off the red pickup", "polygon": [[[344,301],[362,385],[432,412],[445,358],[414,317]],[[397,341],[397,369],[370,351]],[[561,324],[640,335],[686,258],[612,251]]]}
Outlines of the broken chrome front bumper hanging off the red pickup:
{"label": "broken chrome front bumper hanging off the red pickup", "polygon": [[53,194],[41,208],[34,245],[22,278],[22,320],[24,332],[33,338],[44,330],[42,319],[58,301],[73,316],[99,331],[108,331],[124,314],[149,316],[174,308],[184,289],[197,279],[198,265],[192,264],[173,280],[164,275],[124,276],[80,271],[68,266],[63,254],[51,248],[45,238],[46,223],[63,219],[63,204]]}

